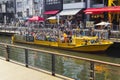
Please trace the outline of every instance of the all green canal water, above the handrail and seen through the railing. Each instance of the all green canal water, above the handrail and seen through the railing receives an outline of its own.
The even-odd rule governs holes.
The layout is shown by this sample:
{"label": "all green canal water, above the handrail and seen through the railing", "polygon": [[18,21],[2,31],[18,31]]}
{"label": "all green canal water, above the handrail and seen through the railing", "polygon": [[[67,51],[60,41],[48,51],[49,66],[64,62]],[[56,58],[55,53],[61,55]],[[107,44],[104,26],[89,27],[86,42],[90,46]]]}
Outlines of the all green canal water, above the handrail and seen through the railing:
{"label": "all green canal water, above the handrail and seen through the railing", "polygon": [[[1,36],[0,35],[0,42],[2,43],[10,43],[11,44],[11,37],[10,36]],[[15,45],[26,46],[30,48],[37,48],[41,50],[47,50],[52,52],[57,52],[59,54],[68,54],[74,55],[79,57],[91,58],[96,60],[102,60],[112,63],[120,63],[120,58],[109,57],[107,54],[88,54],[88,53],[80,53],[80,52],[72,52],[72,51],[65,51],[60,49],[54,49],[49,47],[42,47],[38,45],[28,45],[28,44],[20,44],[14,43]],[[10,58],[13,60],[24,62],[24,51],[21,49],[12,49],[13,54],[10,55]],[[21,54],[17,54],[21,53]],[[35,53],[35,54],[34,54]],[[43,53],[36,53],[34,51],[29,51],[29,65],[39,67],[45,70],[51,70],[51,55],[46,55]],[[48,65],[49,64],[49,65]],[[59,66],[58,66],[59,65]],[[64,58],[61,56],[56,57],[56,73],[65,75],[75,80],[89,80],[89,62],[76,60],[76,59],[69,59]],[[95,64],[100,65],[100,64]],[[95,80],[120,80],[120,68],[102,65],[105,69],[102,71],[96,71]]]}

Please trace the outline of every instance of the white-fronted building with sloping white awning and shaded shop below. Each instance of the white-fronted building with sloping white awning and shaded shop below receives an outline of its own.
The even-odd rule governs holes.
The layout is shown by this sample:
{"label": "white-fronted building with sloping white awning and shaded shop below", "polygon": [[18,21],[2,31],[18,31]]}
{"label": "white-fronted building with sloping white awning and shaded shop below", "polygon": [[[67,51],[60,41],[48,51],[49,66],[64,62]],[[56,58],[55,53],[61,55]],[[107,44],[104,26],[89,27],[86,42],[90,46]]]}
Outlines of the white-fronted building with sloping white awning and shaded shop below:
{"label": "white-fronted building with sloping white awning and shaded shop below", "polygon": [[62,22],[68,20],[71,24],[84,22],[84,12],[86,8],[85,0],[63,0],[63,10],[58,14]]}

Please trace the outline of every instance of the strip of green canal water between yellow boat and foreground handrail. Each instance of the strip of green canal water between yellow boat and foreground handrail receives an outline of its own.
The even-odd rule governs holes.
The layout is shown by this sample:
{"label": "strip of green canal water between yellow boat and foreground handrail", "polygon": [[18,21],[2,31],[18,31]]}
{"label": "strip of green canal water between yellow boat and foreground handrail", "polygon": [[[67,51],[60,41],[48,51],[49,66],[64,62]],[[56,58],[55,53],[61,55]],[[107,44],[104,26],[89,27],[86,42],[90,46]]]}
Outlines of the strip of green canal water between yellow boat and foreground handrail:
{"label": "strip of green canal water between yellow boat and foreground handrail", "polygon": [[[11,44],[11,37],[0,35],[0,42]],[[106,53],[104,53],[104,54],[99,54],[99,53],[98,54],[89,54],[89,53],[73,52],[73,51],[61,50],[61,49],[56,49],[56,48],[43,47],[43,46],[39,46],[39,45],[28,45],[28,44],[21,44],[21,43],[14,43],[14,44],[20,45],[20,46],[26,46],[26,47],[30,47],[30,48],[37,48],[37,49],[41,49],[41,50],[57,52],[60,54],[69,54],[69,55],[91,58],[91,59],[96,59],[96,60],[102,60],[102,61],[107,61],[107,62],[120,63],[120,58],[108,56]]]}

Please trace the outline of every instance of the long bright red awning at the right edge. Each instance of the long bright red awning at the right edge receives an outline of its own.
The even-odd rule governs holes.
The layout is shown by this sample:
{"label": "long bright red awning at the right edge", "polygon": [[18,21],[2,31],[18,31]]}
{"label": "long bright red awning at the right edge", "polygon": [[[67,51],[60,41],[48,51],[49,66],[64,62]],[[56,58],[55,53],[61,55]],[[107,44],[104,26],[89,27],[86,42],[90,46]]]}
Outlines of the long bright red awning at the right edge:
{"label": "long bright red awning at the right edge", "polygon": [[103,8],[88,8],[85,11],[85,14],[94,14],[101,12],[120,12],[120,6],[112,6],[112,7],[103,7]]}

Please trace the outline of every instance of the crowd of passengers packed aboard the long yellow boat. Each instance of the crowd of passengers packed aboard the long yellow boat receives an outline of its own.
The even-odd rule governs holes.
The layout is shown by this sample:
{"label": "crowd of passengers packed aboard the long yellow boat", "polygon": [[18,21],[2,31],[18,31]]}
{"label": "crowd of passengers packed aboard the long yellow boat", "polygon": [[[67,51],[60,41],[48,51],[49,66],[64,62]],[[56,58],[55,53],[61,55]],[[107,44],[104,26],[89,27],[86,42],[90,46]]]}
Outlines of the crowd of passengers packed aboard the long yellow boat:
{"label": "crowd of passengers packed aboard the long yellow boat", "polygon": [[76,27],[74,29],[70,29],[69,27],[63,27],[59,25],[58,27],[54,26],[52,28],[29,27],[26,28],[26,30],[20,30],[20,35],[33,36],[36,40],[71,43],[73,36],[97,36],[99,39],[108,39],[110,30],[109,32],[96,32],[94,28],[85,30]]}

